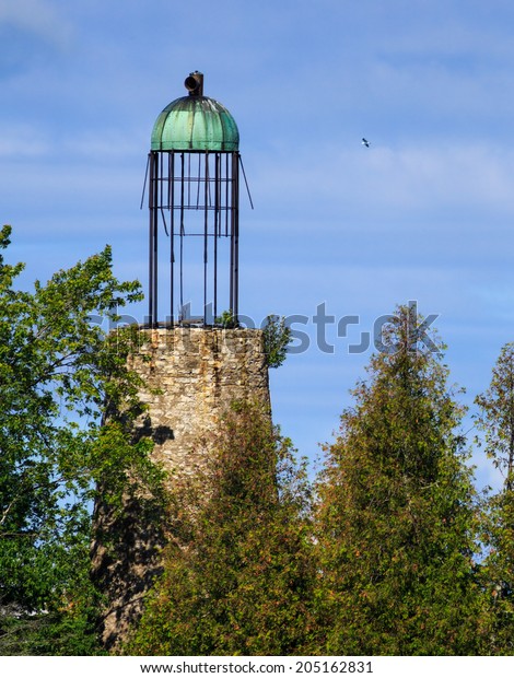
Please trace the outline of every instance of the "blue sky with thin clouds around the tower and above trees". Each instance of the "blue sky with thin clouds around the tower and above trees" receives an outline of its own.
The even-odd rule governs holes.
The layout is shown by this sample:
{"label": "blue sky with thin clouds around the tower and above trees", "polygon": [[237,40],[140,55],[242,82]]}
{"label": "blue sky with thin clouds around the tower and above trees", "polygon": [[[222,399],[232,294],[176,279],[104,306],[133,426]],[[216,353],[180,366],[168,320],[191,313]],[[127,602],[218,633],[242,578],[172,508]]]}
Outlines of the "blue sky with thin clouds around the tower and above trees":
{"label": "blue sky with thin clouds around the tower and above trees", "polygon": [[0,0],[0,219],[23,283],[109,243],[116,273],[145,284],[150,133],[200,70],[255,203],[241,312],[361,318],[347,339],[327,329],[334,353],[313,340],[271,373],[300,453],[318,454],[364,374],[371,352],[349,343],[398,303],[440,316],[472,405],[514,340],[513,25],[510,0]]}

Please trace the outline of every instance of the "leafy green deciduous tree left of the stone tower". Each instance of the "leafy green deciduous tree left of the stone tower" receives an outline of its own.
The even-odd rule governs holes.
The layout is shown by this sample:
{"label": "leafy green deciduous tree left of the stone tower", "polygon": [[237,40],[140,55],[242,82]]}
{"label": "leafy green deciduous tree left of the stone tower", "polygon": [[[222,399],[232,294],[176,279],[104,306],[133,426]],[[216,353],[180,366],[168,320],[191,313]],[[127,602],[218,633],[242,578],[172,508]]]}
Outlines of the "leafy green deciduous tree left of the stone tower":
{"label": "leafy green deciduous tree left of the stone tower", "polygon": [[[1,230],[0,250],[10,234]],[[130,439],[141,411],[138,376],[127,369],[133,331],[106,335],[91,322],[100,314],[116,323],[117,308],[142,295],[138,282],[113,276],[109,247],[32,292],[14,288],[22,270],[0,255],[0,648],[10,652],[16,629],[34,621],[26,613],[40,612],[32,650],[77,653],[97,604],[87,573],[96,483],[108,475],[116,503],[129,477],[156,481],[149,443]],[[51,645],[48,620],[75,620],[68,650],[58,639]],[[79,645],[85,653],[87,643]]]}

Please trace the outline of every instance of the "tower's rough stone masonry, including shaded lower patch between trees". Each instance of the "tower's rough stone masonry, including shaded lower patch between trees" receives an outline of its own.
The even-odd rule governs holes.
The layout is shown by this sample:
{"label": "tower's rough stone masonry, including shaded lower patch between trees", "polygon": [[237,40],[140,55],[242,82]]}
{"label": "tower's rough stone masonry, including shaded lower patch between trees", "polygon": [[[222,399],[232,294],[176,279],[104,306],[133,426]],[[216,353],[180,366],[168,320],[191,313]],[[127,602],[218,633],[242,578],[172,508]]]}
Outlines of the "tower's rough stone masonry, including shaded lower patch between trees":
{"label": "tower's rough stone masonry, including shaded lower patch between trees", "polygon": [[[153,439],[152,457],[168,471],[173,483],[174,478],[196,472],[201,465],[198,442],[215,429],[232,401],[270,405],[264,337],[256,329],[141,331],[148,341],[129,365],[148,386],[140,394],[148,411],[137,434]],[[161,526],[147,524],[137,505],[127,504],[125,513],[114,525],[108,508],[97,502],[94,514],[98,535],[114,529],[124,535],[114,554],[101,537],[92,546],[93,577],[108,599],[102,632],[110,648],[118,646],[139,618],[144,595],[161,571],[159,553],[166,540]]]}

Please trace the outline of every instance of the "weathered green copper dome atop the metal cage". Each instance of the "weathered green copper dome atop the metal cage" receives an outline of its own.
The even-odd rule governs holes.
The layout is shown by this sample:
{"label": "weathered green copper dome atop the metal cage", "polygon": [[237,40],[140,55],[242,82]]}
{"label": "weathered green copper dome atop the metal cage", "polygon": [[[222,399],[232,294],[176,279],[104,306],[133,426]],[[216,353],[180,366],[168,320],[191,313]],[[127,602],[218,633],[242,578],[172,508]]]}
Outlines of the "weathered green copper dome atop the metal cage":
{"label": "weathered green copper dome atop the metal cage", "polygon": [[168,104],[155,120],[152,151],[237,151],[240,132],[234,118],[208,96],[183,96]]}

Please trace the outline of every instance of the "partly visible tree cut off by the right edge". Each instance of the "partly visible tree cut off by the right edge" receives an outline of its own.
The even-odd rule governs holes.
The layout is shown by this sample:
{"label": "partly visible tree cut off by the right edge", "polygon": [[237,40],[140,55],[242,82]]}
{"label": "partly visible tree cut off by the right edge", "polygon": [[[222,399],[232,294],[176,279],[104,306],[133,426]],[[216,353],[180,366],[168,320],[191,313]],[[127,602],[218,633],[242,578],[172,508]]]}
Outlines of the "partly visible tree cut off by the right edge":
{"label": "partly visible tree cut off by the right edge", "polygon": [[476,423],[486,455],[503,475],[503,487],[489,495],[482,539],[482,575],[491,612],[490,652],[514,651],[514,343],[505,344],[486,394],[476,398]]}

